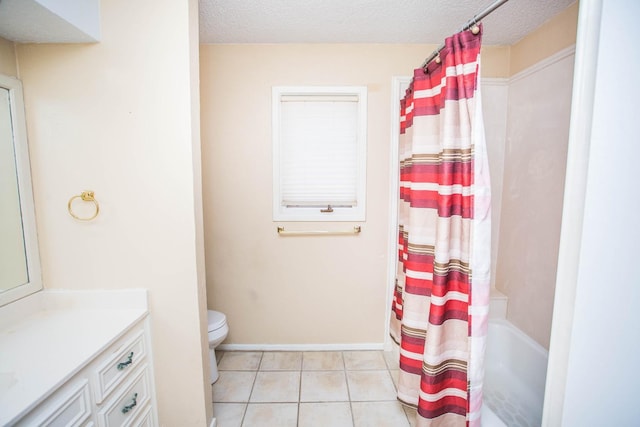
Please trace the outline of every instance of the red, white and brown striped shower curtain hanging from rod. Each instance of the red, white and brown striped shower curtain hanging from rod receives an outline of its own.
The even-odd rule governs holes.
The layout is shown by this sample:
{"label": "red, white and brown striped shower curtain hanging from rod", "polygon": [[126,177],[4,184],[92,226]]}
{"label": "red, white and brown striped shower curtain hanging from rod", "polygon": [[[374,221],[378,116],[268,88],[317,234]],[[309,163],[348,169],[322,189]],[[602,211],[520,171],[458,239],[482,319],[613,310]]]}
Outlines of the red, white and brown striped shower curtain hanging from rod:
{"label": "red, white and brown striped shower curtain hanging from rod", "polygon": [[391,336],[398,399],[417,426],[480,426],[490,289],[482,29],[449,37],[401,101],[398,268]]}

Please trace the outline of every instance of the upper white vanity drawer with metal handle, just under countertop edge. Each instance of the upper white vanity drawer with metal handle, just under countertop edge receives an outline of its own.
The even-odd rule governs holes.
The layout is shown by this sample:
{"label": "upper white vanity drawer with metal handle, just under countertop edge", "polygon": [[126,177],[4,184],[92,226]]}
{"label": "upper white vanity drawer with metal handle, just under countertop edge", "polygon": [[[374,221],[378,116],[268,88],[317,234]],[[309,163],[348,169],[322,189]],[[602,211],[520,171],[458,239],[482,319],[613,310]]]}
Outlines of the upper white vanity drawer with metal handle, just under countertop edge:
{"label": "upper white vanity drawer with metal handle, just under countertop edge", "polygon": [[96,403],[101,404],[140,365],[145,356],[144,331],[138,331],[124,345],[114,349],[112,355],[96,369]]}

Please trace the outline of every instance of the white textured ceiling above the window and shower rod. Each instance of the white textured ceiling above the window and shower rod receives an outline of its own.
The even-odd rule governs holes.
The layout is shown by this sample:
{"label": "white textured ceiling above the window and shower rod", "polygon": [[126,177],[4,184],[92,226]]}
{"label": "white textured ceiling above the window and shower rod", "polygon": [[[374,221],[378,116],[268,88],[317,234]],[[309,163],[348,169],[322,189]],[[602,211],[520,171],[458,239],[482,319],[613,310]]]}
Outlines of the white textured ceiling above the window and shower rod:
{"label": "white textured ceiling above the window and shower rod", "polygon": [[[575,0],[510,0],[483,42],[511,45]],[[201,43],[440,44],[494,0],[200,0]]]}

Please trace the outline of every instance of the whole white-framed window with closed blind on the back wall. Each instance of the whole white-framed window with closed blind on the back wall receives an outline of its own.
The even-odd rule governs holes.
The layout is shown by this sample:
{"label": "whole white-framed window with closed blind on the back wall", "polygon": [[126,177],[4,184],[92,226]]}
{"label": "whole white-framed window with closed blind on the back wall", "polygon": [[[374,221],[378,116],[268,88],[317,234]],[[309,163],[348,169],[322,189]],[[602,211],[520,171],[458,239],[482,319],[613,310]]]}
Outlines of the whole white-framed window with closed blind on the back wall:
{"label": "whole white-framed window with closed blind on the back wall", "polygon": [[367,89],[273,88],[273,219],[364,221]]}

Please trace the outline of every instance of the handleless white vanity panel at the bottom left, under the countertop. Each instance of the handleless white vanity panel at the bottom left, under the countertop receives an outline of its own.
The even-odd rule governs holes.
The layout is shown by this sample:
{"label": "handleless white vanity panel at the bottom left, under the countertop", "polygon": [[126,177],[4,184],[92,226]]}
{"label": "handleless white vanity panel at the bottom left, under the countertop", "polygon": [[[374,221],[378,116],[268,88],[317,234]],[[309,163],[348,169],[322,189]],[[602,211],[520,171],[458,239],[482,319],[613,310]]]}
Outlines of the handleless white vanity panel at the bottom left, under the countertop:
{"label": "handleless white vanity panel at the bottom left, under the countertop", "polygon": [[84,425],[90,416],[89,381],[85,379],[45,401],[18,425],[75,427]]}

